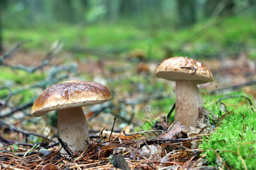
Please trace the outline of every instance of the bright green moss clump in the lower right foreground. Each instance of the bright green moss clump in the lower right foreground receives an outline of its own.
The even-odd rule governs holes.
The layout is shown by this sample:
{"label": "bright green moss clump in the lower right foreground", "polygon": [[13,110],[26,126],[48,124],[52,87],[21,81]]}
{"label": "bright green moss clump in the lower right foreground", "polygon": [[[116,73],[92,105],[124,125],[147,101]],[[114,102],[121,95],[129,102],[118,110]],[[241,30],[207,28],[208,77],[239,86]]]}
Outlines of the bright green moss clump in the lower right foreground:
{"label": "bright green moss clump in the lower right foreground", "polygon": [[201,148],[208,163],[216,165],[216,153],[228,166],[247,169],[256,166],[256,117],[247,107],[233,108],[234,113],[225,118],[210,137],[204,137]]}

